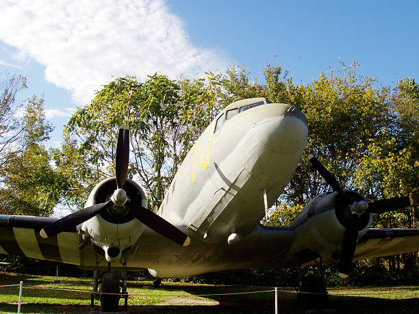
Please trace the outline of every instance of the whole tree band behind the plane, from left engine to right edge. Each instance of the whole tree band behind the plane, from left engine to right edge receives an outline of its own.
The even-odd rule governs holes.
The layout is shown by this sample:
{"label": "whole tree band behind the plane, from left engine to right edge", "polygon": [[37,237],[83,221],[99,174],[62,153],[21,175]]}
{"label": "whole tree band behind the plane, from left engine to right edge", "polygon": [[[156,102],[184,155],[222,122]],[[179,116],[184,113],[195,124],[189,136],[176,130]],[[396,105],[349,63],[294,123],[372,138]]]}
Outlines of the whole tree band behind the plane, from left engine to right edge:
{"label": "whole tree band behind the plane, from left engine to right edge", "polygon": [[[358,189],[368,200],[416,195],[418,84],[405,79],[393,91],[376,88],[375,79],[357,74],[357,62],[341,66],[338,73],[329,69],[307,85],[295,84],[288,72],[270,64],[264,69],[264,85],[235,65],[194,80],[160,74],[143,83],[134,77],[115,79],[90,105],[77,110],[66,126],[68,142],[55,152],[58,168],[66,163],[67,170],[60,171],[70,175],[68,203],[81,207],[88,190],[114,174],[116,134],[124,123],[131,129],[129,176],[138,175],[152,207],[160,205],[181,161],[220,109],[254,96],[296,105],[309,124],[303,159],[281,196],[282,205],[271,213],[270,225],[289,225],[301,205],[329,189],[307,161],[309,153],[318,156],[342,187]],[[407,226],[417,218],[402,220],[401,226]]]}

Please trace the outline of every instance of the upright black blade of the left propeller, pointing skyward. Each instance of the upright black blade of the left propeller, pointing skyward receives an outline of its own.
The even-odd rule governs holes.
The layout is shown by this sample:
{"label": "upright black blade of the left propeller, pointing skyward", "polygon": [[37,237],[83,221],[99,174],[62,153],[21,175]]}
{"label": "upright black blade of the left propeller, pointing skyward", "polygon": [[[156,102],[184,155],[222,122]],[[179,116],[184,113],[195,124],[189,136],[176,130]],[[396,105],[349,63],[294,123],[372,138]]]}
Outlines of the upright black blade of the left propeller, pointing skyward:
{"label": "upright black blade of the left propeller, pointing skyward", "polygon": [[129,162],[129,129],[121,125],[116,144],[115,176],[118,189],[123,189],[128,173]]}

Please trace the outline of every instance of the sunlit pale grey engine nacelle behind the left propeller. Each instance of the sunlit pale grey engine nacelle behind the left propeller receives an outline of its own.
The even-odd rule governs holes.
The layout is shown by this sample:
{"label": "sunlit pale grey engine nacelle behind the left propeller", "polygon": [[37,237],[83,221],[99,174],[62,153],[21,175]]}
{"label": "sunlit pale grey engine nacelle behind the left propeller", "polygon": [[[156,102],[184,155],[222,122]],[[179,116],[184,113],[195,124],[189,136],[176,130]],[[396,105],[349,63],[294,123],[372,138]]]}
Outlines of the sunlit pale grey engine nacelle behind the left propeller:
{"label": "sunlit pale grey engine nacelle behind the left propeller", "polygon": [[[125,192],[129,202],[123,207],[111,206],[102,213],[90,218],[81,225],[81,231],[92,240],[93,244],[102,248],[105,258],[110,263],[120,260],[123,250],[136,243],[145,225],[132,215],[129,203],[147,208],[147,199],[140,185],[127,179]],[[106,202],[116,190],[114,177],[98,183],[90,193],[85,207]]]}

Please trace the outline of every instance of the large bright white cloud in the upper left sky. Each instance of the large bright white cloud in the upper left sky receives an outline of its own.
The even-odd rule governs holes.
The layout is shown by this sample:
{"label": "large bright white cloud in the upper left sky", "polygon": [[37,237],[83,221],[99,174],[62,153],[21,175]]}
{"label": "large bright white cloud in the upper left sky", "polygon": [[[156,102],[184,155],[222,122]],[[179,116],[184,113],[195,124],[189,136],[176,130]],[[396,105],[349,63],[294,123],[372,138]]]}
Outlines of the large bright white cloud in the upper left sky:
{"label": "large bright white cloud in the upper left sky", "polygon": [[45,66],[45,78],[88,103],[114,77],[201,75],[225,65],[186,38],[162,0],[1,1],[0,40]]}

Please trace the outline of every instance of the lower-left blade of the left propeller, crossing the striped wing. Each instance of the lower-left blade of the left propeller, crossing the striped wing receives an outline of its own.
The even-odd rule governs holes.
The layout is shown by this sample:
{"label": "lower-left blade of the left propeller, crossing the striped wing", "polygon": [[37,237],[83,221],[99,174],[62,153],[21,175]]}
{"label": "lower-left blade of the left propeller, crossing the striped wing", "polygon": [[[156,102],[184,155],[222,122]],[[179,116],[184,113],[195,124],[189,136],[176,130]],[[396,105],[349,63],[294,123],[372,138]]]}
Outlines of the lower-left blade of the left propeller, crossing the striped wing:
{"label": "lower-left blade of the left propeller, crossing the striped wing", "polygon": [[70,215],[66,215],[60,220],[57,220],[43,228],[40,231],[40,236],[46,239],[47,237],[51,237],[51,235],[56,235],[66,230],[68,227],[77,226],[77,224],[81,224],[82,222],[89,220],[110,205],[112,205],[112,200],[86,207],[85,209],[81,209],[80,211],[76,211]]}

